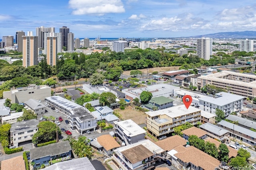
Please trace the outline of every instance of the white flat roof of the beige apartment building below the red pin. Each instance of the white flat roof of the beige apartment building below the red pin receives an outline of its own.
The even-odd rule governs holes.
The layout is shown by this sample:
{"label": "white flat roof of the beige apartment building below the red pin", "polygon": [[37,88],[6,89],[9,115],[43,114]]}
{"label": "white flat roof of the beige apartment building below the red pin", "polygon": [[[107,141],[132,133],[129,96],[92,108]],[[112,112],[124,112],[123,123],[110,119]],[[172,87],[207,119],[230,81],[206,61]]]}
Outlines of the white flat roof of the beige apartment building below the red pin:
{"label": "white flat roof of the beige apartment building below the red pin", "polygon": [[169,108],[162,109],[162,110],[148,111],[146,113],[148,115],[150,115],[151,117],[158,116],[158,115],[167,115],[171,118],[174,118],[174,117],[179,117],[182,115],[187,115],[189,113],[194,113],[197,111],[201,112],[201,110],[197,109],[196,107],[190,106],[187,109],[185,105],[180,105],[180,106],[169,107]]}

